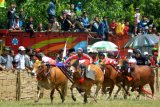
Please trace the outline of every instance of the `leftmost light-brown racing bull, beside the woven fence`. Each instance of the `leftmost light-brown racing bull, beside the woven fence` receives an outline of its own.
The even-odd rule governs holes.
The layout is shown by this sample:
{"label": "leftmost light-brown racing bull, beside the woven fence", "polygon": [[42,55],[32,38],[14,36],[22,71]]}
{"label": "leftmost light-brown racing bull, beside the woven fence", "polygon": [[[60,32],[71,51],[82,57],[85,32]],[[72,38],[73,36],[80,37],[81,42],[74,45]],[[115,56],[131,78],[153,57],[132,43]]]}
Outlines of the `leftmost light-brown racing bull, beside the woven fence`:
{"label": "leftmost light-brown racing bull, beside the woven fence", "polygon": [[40,95],[43,94],[43,89],[51,90],[51,103],[53,102],[55,89],[59,92],[62,102],[64,102],[68,79],[58,67],[50,67],[48,71],[46,65],[42,64],[41,61],[36,61],[32,72],[36,73],[38,80],[37,100],[35,102],[39,101]]}

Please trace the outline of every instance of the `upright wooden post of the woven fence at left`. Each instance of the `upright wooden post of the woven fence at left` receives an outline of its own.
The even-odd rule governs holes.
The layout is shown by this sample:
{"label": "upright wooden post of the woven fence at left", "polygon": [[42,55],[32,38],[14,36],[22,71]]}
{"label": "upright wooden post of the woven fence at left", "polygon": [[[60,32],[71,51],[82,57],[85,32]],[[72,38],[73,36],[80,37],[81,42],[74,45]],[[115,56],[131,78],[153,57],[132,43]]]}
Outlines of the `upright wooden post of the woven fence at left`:
{"label": "upright wooden post of the woven fence at left", "polygon": [[16,100],[20,101],[21,99],[21,79],[20,79],[20,70],[17,71],[17,83],[16,83]]}

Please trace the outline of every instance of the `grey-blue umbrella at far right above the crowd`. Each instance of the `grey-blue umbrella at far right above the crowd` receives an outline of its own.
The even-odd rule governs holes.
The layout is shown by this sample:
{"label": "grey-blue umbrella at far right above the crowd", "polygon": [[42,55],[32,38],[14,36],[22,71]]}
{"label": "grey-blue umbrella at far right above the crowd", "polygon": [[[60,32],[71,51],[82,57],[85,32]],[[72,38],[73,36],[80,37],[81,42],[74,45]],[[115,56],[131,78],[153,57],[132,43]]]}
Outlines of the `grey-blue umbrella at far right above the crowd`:
{"label": "grey-blue umbrella at far right above the crowd", "polygon": [[150,47],[158,43],[159,38],[156,35],[146,34],[137,35],[136,37],[130,39],[124,48],[139,48],[139,47]]}

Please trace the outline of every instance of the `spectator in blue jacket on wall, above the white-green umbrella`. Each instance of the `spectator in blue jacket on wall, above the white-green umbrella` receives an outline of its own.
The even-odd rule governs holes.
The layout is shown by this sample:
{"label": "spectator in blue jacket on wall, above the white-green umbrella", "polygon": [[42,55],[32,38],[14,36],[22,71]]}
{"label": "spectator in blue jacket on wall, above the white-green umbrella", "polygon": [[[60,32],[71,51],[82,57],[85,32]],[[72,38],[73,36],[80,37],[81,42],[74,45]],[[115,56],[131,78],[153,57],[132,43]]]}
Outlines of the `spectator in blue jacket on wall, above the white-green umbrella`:
{"label": "spectator in blue jacket on wall, above the white-green umbrella", "polygon": [[109,26],[108,26],[108,21],[106,16],[103,17],[103,21],[100,23],[98,27],[98,34],[103,39],[108,40]]}

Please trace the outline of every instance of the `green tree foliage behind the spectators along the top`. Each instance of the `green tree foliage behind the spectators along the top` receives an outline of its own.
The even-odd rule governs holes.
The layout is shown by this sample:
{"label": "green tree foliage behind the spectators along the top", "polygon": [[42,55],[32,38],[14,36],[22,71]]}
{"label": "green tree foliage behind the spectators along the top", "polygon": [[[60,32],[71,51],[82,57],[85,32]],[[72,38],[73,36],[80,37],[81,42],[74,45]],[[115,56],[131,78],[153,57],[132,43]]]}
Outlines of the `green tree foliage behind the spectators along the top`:
{"label": "green tree foliage behind the spectators along the top", "polygon": [[[6,27],[6,13],[11,2],[17,3],[17,12],[23,8],[26,19],[33,16],[35,24],[39,22],[47,24],[47,7],[50,0],[6,0],[6,8],[0,8],[0,23]],[[157,26],[160,24],[160,0],[56,0],[57,16],[61,15],[62,10],[69,9],[70,4],[82,2],[83,10],[89,13],[89,17],[100,17],[106,15],[109,19],[126,19],[133,23],[134,10],[140,8],[141,16],[146,15],[153,18]],[[160,28],[158,27],[160,30]]]}

